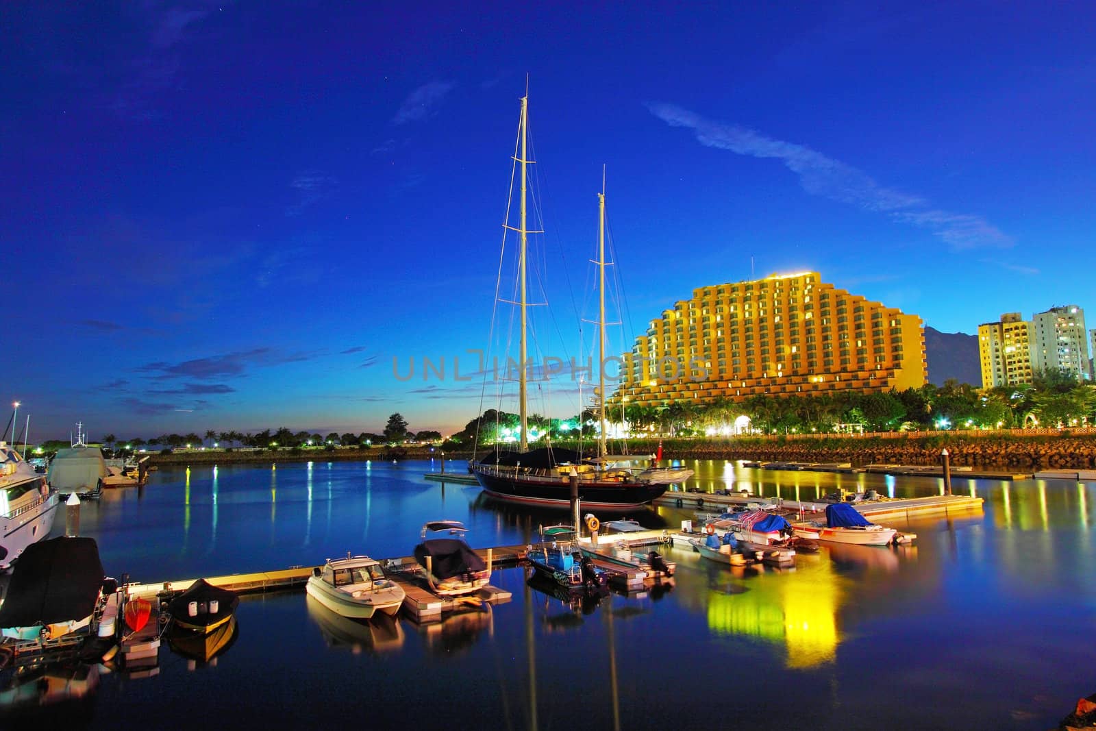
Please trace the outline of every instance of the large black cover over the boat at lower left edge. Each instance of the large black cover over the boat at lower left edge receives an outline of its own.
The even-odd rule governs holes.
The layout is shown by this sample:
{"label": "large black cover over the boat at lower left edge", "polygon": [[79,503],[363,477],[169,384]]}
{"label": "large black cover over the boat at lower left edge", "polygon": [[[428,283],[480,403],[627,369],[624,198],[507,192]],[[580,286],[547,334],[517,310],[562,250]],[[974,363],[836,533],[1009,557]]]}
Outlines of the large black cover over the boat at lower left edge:
{"label": "large black cover over the boat at lower left edge", "polygon": [[93,538],[31,544],[15,561],[0,606],[0,627],[83,619],[94,610],[105,575]]}

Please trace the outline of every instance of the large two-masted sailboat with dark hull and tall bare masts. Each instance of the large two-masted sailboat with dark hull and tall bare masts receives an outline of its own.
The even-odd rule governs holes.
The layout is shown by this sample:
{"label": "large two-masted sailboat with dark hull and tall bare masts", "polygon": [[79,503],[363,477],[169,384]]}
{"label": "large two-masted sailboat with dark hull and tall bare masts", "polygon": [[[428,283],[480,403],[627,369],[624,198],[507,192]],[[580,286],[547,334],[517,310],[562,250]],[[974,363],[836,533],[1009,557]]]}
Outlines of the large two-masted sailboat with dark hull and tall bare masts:
{"label": "large two-masted sailboat with dark hull and tall bare masts", "polygon": [[[493,452],[472,465],[472,473],[484,492],[499,500],[541,505],[546,507],[569,507],[571,505],[571,481],[578,482],[578,498],[582,505],[607,511],[627,511],[651,503],[662,495],[671,484],[683,482],[693,476],[693,470],[660,468],[654,466],[651,455],[610,456],[606,448],[605,420],[605,192],[604,182],[598,201],[598,409],[601,432],[597,438],[597,456],[586,459],[581,454],[553,448],[551,446],[528,450],[528,388],[527,388],[527,327],[526,327],[526,250],[530,232],[526,226],[526,175],[527,165],[533,162],[527,155],[528,96],[522,100],[518,136],[521,155],[521,201],[518,207],[520,240],[518,289],[521,311],[521,336],[518,341],[518,400],[521,418],[521,450],[517,453]],[[509,222],[509,221],[507,221]],[[507,226],[509,228],[509,226]],[[638,462],[638,464],[637,464]],[[644,466],[642,462],[650,462]]]}

